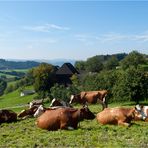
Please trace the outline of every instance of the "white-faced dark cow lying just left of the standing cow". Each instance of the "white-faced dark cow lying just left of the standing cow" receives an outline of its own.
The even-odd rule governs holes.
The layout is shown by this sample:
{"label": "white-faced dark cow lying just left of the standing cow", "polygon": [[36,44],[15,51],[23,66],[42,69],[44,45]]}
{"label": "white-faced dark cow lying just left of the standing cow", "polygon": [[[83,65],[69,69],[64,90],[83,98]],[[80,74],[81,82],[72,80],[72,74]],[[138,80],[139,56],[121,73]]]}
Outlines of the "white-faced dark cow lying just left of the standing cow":
{"label": "white-faced dark cow lying just left of the standing cow", "polygon": [[50,107],[53,106],[65,106],[65,107],[72,107],[69,103],[63,101],[63,100],[58,100],[58,99],[52,99]]}

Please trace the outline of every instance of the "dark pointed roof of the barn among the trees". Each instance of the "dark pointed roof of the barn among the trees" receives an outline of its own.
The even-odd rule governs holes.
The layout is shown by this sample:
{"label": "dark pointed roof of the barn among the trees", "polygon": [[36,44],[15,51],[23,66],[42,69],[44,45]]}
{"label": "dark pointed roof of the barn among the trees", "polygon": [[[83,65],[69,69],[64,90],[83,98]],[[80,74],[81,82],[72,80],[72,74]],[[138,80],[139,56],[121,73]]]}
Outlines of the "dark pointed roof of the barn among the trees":
{"label": "dark pointed roof of the barn among the trees", "polygon": [[73,75],[79,74],[71,63],[64,63],[56,72],[57,75]]}

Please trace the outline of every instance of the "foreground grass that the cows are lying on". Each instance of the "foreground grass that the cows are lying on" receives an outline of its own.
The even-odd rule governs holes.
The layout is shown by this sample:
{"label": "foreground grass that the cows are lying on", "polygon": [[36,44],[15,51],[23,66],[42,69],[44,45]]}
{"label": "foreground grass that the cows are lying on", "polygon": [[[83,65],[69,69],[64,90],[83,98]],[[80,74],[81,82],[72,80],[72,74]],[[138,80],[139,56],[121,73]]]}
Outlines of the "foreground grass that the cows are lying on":
{"label": "foreground grass that the cows are lying on", "polygon": [[[131,104],[109,104],[113,106]],[[80,106],[76,106],[80,107]],[[89,105],[92,112],[101,105]],[[131,127],[105,125],[85,120],[77,130],[46,131],[35,125],[35,118],[0,125],[0,147],[148,147],[148,123],[133,122]]]}

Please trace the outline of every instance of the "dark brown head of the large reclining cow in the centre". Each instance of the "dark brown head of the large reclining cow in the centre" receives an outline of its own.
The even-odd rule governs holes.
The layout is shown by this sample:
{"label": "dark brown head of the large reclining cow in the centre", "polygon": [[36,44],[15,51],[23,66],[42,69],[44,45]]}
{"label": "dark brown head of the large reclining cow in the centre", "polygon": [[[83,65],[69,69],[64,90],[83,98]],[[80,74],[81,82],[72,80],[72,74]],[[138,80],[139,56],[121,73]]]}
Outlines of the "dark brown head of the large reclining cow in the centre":
{"label": "dark brown head of the large reclining cow in the centre", "polygon": [[84,106],[83,108],[80,109],[80,117],[82,119],[94,119],[95,115],[89,110],[87,106]]}

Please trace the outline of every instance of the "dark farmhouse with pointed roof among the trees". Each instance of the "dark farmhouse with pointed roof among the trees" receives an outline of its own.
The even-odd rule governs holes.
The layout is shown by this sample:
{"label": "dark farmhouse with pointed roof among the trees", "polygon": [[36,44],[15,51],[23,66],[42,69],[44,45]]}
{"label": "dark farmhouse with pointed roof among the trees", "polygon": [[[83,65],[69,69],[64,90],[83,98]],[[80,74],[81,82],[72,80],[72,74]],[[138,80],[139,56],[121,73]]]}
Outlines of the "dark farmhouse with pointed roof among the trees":
{"label": "dark farmhouse with pointed roof among the trees", "polygon": [[74,74],[79,74],[76,68],[71,63],[64,63],[57,71],[56,71],[56,79],[58,84],[68,86],[72,84],[71,76]]}

